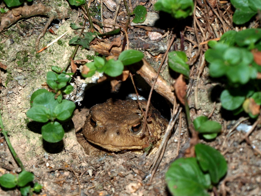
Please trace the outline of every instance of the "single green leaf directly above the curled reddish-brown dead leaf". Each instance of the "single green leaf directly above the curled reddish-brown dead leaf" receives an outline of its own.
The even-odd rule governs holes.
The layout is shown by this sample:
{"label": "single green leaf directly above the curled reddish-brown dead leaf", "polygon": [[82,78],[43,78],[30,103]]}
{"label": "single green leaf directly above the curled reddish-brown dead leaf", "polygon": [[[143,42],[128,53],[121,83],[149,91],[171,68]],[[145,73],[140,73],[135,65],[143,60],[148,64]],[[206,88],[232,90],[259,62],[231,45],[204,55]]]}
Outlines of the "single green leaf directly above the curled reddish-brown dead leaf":
{"label": "single green leaf directly above the curled reddish-brown dead leaf", "polygon": [[173,51],[168,54],[169,67],[178,73],[185,75],[189,78],[189,66],[186,64],[188,61],[187,55],[182,51]]}

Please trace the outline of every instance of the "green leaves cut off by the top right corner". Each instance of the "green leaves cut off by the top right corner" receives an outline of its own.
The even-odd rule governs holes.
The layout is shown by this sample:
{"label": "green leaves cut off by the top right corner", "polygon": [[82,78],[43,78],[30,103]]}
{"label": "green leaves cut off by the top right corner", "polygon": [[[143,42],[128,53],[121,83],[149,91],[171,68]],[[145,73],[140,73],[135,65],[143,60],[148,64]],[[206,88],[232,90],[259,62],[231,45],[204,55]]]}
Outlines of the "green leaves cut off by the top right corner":
{"label": "green leaves cut off by the top right corner", "polygon": [[260,0],[231,0],[232,5],[236,8],[233,15],[235,24],[244,24],[249,21],[258,10],[261,10]]}

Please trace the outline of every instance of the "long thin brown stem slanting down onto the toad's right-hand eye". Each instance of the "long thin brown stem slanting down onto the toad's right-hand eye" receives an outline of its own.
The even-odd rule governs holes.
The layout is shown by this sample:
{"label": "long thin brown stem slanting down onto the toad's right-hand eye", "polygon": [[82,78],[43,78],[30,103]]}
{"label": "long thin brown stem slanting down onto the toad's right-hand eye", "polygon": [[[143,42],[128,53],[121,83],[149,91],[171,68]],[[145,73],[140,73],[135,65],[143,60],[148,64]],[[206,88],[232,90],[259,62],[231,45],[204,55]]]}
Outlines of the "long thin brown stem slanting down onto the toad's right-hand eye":
{"label": "long thin brown stem slanting down onto the toad's right-hand eye", "polygon": [[164,63],[164,61],[165,61],[165,58],[166,58],[166,56],[167,56],[167,54],[168,54],[168,52],[169,52],[169,49],[170,49],[170,47],[171,47],[171,45],[172,45],[172,43],[173,43],[175,37],[176,37],[176,36],[173,35],[173,37],[172,37],[172,39],[171,39],[171,41],[170,41],[170,43],[169,43],[169,46],[168,46],[168,48],[167,48],[167,50],[166,50],[166,52],[165,52],[165,54],[164,54],[164,56],[163,56],[163,58],[162,58],[161,64],[159,65],[157,75],[156,75],[156,77],[154,78],[154,82],[153,82],[153,84],[151,85],[150,94],[149,94],[148,102],[147,102],[147,105],[146,105],[146,112],[145,112],[145,117],[144,117],[145,121],[144,121],[144,126],[143,126],[143,128],[142,128],[142,129],[143,129],[142,132],[145,132],[145,128],[146,128],[146,124],[147,124],[147,116],[148,116],[148,111],[149,111],[150,99],[151,99],[152,91],[153,91],[154,86],[155,86],[155,84],[156,84],[156,82],[157,82],[159,73],[160,73],[160,71],[161,71],[161,67],[162,67],[162,65],[163,65],[163,63]]}

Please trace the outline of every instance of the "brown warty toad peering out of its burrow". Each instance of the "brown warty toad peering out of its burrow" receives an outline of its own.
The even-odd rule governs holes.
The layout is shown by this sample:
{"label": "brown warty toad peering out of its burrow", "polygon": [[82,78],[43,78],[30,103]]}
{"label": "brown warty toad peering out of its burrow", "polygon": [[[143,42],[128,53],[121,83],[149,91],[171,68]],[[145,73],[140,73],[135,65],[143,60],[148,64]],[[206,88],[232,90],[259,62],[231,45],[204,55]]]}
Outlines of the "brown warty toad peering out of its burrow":
{"label": "brown warty toad peering out of its burrow", "polygon": [[[144,115],[147,102],[108,99],[105,103],[91,107],[82,132],[88,142],[108,151],[145,149],[158,146],[167,126],[167,121],[151,104],[147,117],[147,126],[143,130]],[[143,110],[143,111],[142,111]],[[87,154],[94,155],[96,151],[90,144],[78,136],[79,143]]]}

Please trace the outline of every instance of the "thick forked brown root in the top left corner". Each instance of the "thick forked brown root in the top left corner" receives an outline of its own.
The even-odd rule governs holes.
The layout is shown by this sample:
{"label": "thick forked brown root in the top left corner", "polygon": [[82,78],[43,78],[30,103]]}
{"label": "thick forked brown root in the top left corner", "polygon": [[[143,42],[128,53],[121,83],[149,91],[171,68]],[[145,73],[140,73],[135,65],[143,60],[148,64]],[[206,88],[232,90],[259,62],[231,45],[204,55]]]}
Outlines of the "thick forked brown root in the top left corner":
{"label": "thick forked brown root in the top left corner", "polygon": [[58,18],[64,18],[64,15],[62,12],[57,13],[55,10],[53,10],[50,6],[44,5],[42,3],[37,3],[33,5],[23,5],[18,8],[14,8],[10,11],[8,11],[6,14],[4,14],[1,17],[1,23],[0,23],[0,32],[2,32],[4,29],[10,27],[12,24],[16,23],[17,21],[21,20],[22,18],[28,18],[31,16],[36,15],[44,15],[49,18],[48,22],[45,24],[44,29],[41,31],[41,33],[38,35],[36,41],[35,41],[35,49],[38,50],[38,45],[40,42],[40,39],[44,36],[48,26],[51,24],[52,20],[58,19]]}

